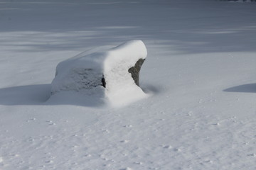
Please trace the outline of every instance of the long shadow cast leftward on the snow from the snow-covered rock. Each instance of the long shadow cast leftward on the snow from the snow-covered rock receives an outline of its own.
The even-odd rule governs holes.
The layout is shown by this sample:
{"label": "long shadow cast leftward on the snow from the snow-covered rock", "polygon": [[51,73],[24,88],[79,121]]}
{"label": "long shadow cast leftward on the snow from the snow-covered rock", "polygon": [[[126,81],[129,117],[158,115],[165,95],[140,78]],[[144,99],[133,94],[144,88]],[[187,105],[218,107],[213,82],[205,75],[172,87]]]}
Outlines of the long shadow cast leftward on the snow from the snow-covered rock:
{"label": "long shadow cast leftward on the snow from the snow-covered rock", "polygon": [[100,98],[90,98],[76,92],[63,93],[50,97],[50,84],[13,86],[0,89],[0,105],[74,105],[99,107],[103,105]]}

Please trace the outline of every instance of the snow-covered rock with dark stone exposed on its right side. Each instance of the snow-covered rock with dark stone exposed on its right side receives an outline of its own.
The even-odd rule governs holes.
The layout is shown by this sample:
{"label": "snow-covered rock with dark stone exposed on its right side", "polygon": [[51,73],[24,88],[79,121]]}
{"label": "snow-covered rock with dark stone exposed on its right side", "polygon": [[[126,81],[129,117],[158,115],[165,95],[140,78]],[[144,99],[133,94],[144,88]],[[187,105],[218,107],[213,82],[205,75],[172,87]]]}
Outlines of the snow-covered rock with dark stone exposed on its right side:
{"label": "snow-covered rock with dark stone exposed on its right side", "polygon": [[144,98],[139,71],[147,52],[141,40],[125,42],[108,50],[83,52],[60,62],[51,94],[76,91],[88,98],[102,98],[113,106]]}

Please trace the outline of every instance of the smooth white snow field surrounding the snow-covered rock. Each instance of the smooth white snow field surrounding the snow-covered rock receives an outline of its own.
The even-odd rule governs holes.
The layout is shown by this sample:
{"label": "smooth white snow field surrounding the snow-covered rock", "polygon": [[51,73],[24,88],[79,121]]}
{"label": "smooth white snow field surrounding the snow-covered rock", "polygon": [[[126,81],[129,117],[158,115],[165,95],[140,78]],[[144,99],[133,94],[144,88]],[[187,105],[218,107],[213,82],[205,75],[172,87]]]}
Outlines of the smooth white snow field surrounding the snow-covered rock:
{"label": "smooth white snow field surrounding the snow-covered rock", "polygon": [[[256,169],[256,3],[1,0],[0,169]],[[148,98],[50,97],[55,67],[142,40]]]}

